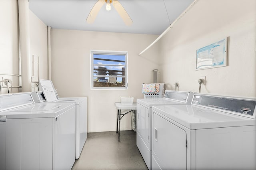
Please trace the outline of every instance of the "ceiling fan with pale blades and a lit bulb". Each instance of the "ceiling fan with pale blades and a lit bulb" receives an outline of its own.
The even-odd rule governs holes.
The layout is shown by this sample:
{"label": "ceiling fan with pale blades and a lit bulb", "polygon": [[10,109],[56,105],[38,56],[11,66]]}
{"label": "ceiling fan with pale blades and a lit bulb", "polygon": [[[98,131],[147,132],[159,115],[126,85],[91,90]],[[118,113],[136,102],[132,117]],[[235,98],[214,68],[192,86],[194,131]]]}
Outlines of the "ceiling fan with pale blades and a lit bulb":
{"label": "ceiling fan with pale blades and a lit bulb", "polygon": [[106,3],[106,10],[110,10],[111,6],[110,4],[113,2],[113,6],[118,12],[118,14],[121,16],[122,20],[127,26],[132,25],[132,19],[130,16],[127,14],[126,10],[124,7],[119,3],[118,0],[98,0],[96,4],[92,7],[91,12],[89,13],[86,22],[93,23],[98,12],[100,11],[100,8]]}

